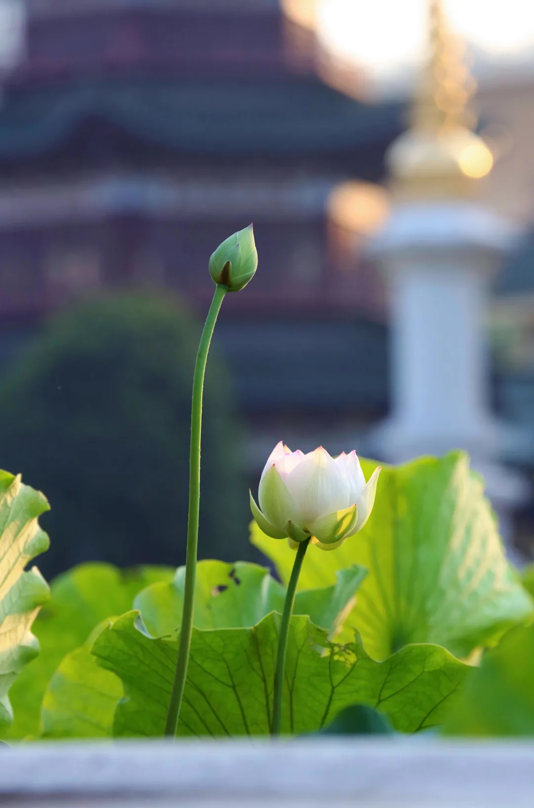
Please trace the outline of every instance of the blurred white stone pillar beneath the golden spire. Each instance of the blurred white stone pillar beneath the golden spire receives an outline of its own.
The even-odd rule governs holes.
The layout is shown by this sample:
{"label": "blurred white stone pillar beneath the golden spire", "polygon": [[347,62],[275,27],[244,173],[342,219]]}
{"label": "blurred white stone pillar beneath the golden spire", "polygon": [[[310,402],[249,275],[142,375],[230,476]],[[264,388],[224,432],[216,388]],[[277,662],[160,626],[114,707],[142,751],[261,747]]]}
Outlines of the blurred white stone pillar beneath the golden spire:
{"label": "blurred white stone pillar beneath the golden spire", "polygon": [[371,244],[389,287],[393,397],[372,444],[392,462],[464,448],[499,511],[526,490],[498,465],[486,313],[490,280],[517,236],[475,204],[405,203]]}

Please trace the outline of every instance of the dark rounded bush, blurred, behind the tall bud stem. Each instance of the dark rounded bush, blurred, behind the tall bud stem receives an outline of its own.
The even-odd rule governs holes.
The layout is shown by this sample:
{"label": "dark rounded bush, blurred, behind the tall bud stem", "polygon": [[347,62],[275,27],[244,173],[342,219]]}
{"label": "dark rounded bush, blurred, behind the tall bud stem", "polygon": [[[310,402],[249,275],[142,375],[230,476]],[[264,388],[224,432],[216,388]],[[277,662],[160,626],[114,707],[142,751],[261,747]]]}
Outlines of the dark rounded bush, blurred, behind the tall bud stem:
{"label": "dark rounded bush, blurred, behind the tall bud stem", "polygon": [[[2,465],[47,492],[47,577],[86,560],[184,561],[199,339],[199,323],[179,302],[111,295],[54,319],[6,373]],[[217,335],[203,427],[200,557],[246,558],[246,482]]]}

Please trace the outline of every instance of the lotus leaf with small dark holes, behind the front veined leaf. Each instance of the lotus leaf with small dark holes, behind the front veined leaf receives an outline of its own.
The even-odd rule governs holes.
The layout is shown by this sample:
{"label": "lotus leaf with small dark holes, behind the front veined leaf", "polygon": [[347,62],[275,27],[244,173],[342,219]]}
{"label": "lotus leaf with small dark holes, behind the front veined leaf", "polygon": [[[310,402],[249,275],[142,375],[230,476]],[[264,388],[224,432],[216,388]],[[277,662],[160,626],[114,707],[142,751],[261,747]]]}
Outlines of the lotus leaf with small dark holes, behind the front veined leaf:
{"label": "lotus leaf with small dark holes, behind the front veined leaf", "polygon": [[[359,565],[334,574],[334,585],[301,591],[296,595],[295,614],[311,617],[313,623],[338,633],[355,602],[355,592],[367,570]],[[153,583],[133,603],[153,637],[179,629],[182,621],[185,567],[176,570],[170,582]],[[197,629],[235,629],[256,625],[269,612],[282,612],[285,589],[257,564],[201,561],[196,570],[195,612]]]}

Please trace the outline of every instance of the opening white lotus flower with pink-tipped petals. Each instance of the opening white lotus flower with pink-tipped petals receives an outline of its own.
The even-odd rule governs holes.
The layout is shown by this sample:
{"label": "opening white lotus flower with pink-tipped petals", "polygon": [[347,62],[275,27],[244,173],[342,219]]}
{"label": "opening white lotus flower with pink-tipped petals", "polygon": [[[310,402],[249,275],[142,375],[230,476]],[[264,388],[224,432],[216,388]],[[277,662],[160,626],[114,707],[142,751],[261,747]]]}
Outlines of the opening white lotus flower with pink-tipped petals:
{"label": "opening white lotus flower with pink-tipped petals", "polygon": [[311,536],[312,544],[332,550],[364,527],[380,471],[366,483],[356,452],[334,460],[322,446],[303,454],[280,441],[259,481],[259,507],[250,494],[250,509],[267,536],[287,537],[293,549]]}

